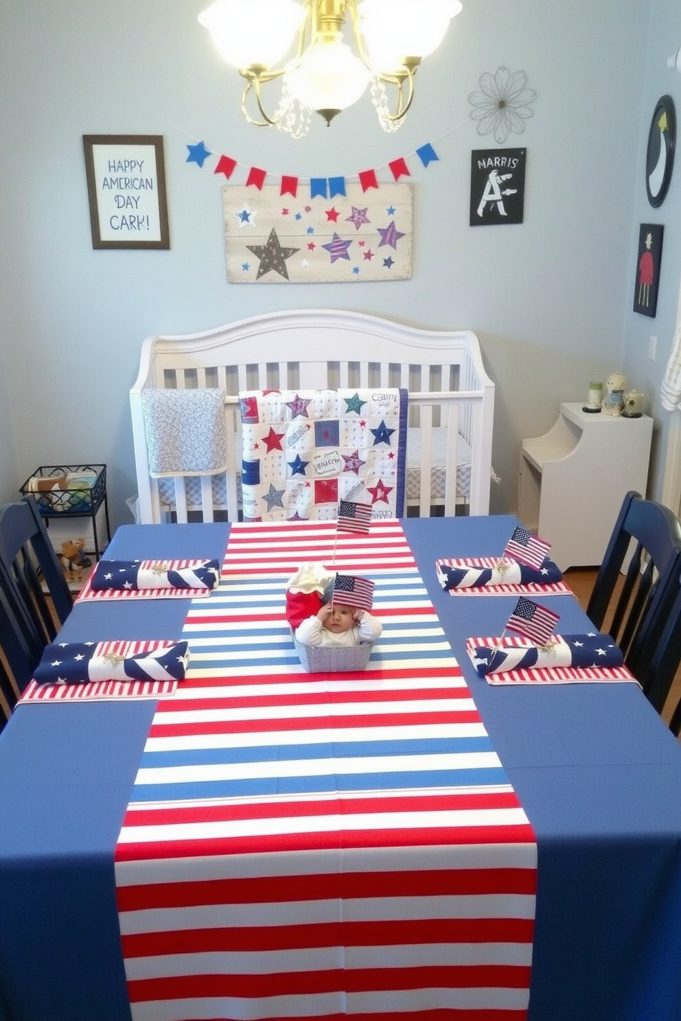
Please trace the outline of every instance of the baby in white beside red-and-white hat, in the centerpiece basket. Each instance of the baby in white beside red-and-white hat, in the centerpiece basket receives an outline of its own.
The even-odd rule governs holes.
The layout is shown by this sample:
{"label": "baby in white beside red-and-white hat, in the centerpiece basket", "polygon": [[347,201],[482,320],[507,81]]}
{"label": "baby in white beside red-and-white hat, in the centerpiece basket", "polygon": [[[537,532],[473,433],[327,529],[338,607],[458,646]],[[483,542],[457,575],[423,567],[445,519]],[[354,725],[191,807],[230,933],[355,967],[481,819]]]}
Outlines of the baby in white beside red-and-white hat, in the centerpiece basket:
{"label": "baby in white beside red-and-white hat, in the centerpiece basket", "polygon": [[[334,581],[338,586],[341,577],[347,576],[334,579],[321,565],[303,564],[289,582],[287,619],[301,645],[350,647],[374,642],[380,636],[381,622],[368,610],[347,605],[342,592],[334,590]],[[373,588],[373,583],[360,581]]]}

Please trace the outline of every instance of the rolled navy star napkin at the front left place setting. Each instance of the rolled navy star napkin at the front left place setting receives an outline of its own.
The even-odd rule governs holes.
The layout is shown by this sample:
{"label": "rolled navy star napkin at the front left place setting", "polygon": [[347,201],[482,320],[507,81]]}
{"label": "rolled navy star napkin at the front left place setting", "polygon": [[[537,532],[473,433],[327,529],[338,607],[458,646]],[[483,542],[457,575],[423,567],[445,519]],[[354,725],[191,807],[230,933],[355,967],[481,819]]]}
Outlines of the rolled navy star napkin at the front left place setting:
{"label": "rolled navy star napkin at the front left place setting", "polygon": [[127,654],[139,642],[60,642],[47,645],[34,680],[38,684],[89,684],[91,681],[183,681],[189,663],[186,641]]}

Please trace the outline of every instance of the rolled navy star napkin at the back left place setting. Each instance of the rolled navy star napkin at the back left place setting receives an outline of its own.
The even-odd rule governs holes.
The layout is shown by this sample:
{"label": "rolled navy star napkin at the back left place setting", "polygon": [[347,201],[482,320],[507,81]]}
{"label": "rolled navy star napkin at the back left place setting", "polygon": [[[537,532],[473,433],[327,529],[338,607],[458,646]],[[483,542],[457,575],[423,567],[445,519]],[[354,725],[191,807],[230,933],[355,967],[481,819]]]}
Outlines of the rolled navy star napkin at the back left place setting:
{"label": "rolled navy star napkin at the back left place setting", "polygon": [[212,589],[218,580],[220,561],[100,561],[90,578],[90,587],[95,592]]}

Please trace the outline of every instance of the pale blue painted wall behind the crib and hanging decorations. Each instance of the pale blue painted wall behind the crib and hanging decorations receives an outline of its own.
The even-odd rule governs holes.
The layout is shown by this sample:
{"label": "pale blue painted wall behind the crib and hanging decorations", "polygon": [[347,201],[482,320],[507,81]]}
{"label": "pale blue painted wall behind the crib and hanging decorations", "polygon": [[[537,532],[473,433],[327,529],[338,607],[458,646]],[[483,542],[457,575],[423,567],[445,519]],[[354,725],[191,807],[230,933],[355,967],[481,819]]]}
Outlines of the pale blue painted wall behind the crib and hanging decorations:
{"label": "pale blue painted wall behind the crib and hanging decorations", "polygon": [[[0,454],[0,490],[37,465],[102,460],[113,520],[129,520],[128,389],[145,335],[283,307],[340,306],[478,333],[497,383],[494,466],[502,482],[492,506],[514,509],[521,439],[544,431],[561,400],[582,399],[589,379],[621,366],[641,389],[656,382],[649,373],[660,361],[635,354],[649,324],[629,312],[632,246],[648,215],[641,139],[650,103],[681,88],[681,76],[658,59],[681,44],[678,4],[465,0],[445,44],[419,71],[401,132],[384,135],[364,99],[331,129],[320,121],[294,142],[243,121],[239,82],[196,22],[206,3],[0,0],[1,342],[15,455]],[[538,94],[525,134],[506,142],[528,148],[525,223],[472,229],[471,150],[494,143],[476,134],[468,94],[501,64],[525,69]],[[93,251],[84,134],[164,136],[171,251]],[[250,165],[277,177],[350,177],[431,141],[439,162],[426,169],[408,158],[412,279],[228,285],[224,179],[212,174],[214,161],[202,171],[186,161],[187,145],[199,139],[239,160],[236,183]],[[675,184],[665,213],[678,211]],[[669,224],[655,325],[667,336],[681,264]],[[4,410],[0,430],[4,449],[12,443]]]}

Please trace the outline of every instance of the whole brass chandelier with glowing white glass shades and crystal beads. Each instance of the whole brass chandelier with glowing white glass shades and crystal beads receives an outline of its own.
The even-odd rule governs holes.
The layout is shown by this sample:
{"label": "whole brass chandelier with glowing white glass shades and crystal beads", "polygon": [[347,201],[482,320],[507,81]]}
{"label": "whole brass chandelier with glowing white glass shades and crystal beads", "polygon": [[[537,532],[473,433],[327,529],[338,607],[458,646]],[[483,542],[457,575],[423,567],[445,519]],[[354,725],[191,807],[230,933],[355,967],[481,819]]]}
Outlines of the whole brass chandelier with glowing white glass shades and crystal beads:
{"label": "whole brass chandelier with glowing white glass shades and crystal beads", "polygon": [[[246,80],[246,119],[301,138],[313,111],[328,126],[368,87],[383,130],[397,131],[417,68],[460,10],[458,0],[215,0],[199,21]],[[344,42],[346,22],[356,52]],[[267,113],[263,86],[276,79],[278,105]]]}

